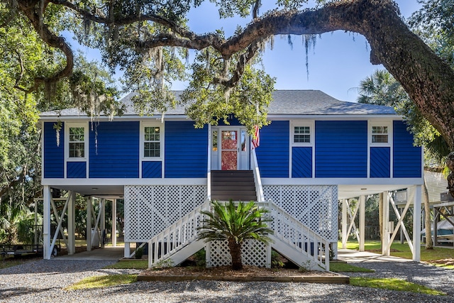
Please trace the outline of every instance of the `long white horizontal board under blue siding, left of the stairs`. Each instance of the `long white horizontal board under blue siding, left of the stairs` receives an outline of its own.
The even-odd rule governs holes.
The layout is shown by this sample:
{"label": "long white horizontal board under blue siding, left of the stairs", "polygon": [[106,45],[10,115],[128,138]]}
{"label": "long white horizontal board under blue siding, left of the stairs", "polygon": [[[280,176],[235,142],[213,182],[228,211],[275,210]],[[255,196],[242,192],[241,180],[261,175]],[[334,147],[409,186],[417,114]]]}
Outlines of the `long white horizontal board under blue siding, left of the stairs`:
{"label": "long white horizontal board under blue siding, left of the stairs", "polygon": [[124,186],[124,185],[206,185],[206,178],[149,178],[149,179],[42,179],[42,185],[50,186]]}

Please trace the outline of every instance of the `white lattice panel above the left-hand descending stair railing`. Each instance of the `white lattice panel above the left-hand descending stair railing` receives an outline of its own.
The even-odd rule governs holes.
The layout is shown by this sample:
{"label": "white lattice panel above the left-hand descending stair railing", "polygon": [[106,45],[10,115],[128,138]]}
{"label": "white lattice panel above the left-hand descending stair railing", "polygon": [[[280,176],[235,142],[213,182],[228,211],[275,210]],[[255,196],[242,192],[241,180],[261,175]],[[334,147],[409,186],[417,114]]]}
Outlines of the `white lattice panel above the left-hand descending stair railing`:
{"label": "white lattice panel above the left-hand descending stair railing", "polygon": [[145,242],[206,199],[206,185],[125,186],[125,241]]}

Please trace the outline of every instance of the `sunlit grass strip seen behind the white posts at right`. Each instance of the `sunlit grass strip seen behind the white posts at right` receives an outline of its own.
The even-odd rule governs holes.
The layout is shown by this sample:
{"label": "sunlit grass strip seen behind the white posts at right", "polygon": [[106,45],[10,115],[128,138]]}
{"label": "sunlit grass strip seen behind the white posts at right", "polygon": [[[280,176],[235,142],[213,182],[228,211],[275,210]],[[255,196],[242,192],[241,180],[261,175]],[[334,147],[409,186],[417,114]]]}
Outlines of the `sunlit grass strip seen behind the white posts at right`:
{"label": "sunlit grass strip seen behind the white posts at right", "polygon": [[[366,241],[365,250],[372,253],[382,253],[382,244],[380,241]],[[342,243],[338,242],[338,248],[342,248]],[[349,241],[347,242],[348,249],[358,250],[360,248],[358,242]],[[391,246],[391,255],[395,257],[411,259],[411,250],[407,243],[401,244],[400,242],[394,242]],[[454,249],[453,248],[433,248],[426,250],[425,246],[421,246],[421,261],[427,263],[435,263],[434,261],[438,260],[448,260],[454,258]],[[451,268],[454,268],[452,266]]]}

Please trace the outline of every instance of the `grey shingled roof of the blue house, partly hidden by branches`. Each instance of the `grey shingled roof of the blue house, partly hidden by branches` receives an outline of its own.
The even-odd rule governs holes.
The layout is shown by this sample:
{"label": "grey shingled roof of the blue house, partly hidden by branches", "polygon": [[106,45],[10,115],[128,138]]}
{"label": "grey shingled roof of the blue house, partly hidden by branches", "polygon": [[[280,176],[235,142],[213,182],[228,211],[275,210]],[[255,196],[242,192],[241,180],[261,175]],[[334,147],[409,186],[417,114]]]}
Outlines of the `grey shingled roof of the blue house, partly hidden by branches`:
{"label": "grey shingled roof of the blue house, partly hidden by branches", "polygon": [[[178,98],[182,91],[174,92]],[[120,101],[126,104],[123,116],[137,116],[133,107],[130,93]],[[396,115],[392,107],[372,104],[360,104],[341,101],[319,90],[277,90],[272,93],[273,101],[270,104],[268,115]],[[184,116],[184,107],[177,106],[170,109],[166,115]],[[86,116],[79,109],[63,109],[61,111],[46,111],[40,114],[45,117]]]}

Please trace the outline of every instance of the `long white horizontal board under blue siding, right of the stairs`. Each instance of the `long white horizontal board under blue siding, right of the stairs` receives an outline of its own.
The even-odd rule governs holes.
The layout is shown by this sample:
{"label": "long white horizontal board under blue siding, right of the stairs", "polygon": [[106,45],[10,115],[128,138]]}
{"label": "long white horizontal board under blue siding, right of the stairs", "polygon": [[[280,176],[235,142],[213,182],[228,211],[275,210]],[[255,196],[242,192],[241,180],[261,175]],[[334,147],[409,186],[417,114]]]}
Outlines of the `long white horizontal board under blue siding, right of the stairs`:
{"label": "long white horizontal board under blue siding, right of the stairs", "polygon": [[262,178],[262,185],[421,185],[423,178]]}

